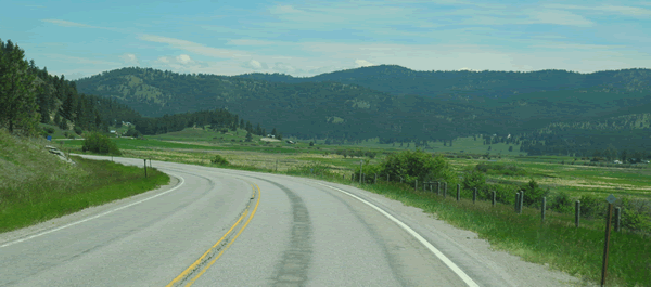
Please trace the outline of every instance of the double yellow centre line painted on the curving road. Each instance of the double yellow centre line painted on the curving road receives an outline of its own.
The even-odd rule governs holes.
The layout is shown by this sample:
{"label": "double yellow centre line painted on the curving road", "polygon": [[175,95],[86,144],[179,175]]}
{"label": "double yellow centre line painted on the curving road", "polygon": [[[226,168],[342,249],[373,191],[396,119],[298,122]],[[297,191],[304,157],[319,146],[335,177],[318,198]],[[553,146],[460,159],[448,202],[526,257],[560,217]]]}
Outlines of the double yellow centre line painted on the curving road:
{"label": "double yellow centre line painted on the curving road", "polygon": [[196,270],[196,268],[200,264],[202,264],[204,262],[204,260],[210,253],[213,253],[213,251],[217,247],[219,247],[219,245],[231,234],[231,232],[233,232],[233,230],[235,230],[235,227],[248,214],[248,219],[246,220],[246,222],[244,223],[244,225],[242,225],[242,227],[240,227],[240,231],[238,232],[238,234],[235,234],[235,236],[232,239],[229,240],[228,245],[226,245],[226,247],[224,247],[221,249],[221,251],[219,251],[219,253],[215,258],[213,258],[213,260],[210,260],[207,264],[205,264],[205,266],[199,273],[196,273],[196,275],[194,275],[192,278],[190,278],[188,281],[188,283],[186,284],[186,286],[191,286],[192,284],[194,284],[194,282],[196,279],[199,279],[199,277],[201,277],[201,275],[203,275],[215,263],[215,261],[217,261],[217,259],[219,259],[221,257],[221,255],[224,255],[224,251],[226,251],[231,246],[231,244],[233,244],[233,242],[238,238],[238,236],[240,236],[240,234],[242,234],[242,231],[244,231],[244,229],[246,227],[246,225],[248,225],[248,222],[251,222],[251,219],[253,219],[253,216],[255,216],[255,211],[257,210],[257,207],[260,204],[260,187],[257,186],[257,184],[251,184],[251,187],[253,188],[253,196],[255,196],[256,188],[257,188],[257,194],[258,194],[257,201],[255,203],[255,207],[253,208],[253,211],[251,212],[251,214],[248,214],[248,209],[251,207],[251,205],[248,205],[248,206],[246,206],[246,209],[244,209],[244,212],[242,212],[242,216],[238,219],[238,221],[235,222],[235,224],[233,224],[233,226],[231,226],[231,229],[224,236],[221,236],[221,238],[219,239],[219,242],[217,242],[215,245],[213,245],[213,247],[210,247],[205,253],[203,253],[203,256],[201,256],[196,261],[194,261],[194,263],[192,263],[192,265],[190,265],[181,274],[179,274],[176,278],[174,278],[169,284],[167,284],[166,287],[173,287],[173,286],[176,286],[177,284],[179,284],[183,279],[189,279],[190,276],[193,275],[193,273]]}

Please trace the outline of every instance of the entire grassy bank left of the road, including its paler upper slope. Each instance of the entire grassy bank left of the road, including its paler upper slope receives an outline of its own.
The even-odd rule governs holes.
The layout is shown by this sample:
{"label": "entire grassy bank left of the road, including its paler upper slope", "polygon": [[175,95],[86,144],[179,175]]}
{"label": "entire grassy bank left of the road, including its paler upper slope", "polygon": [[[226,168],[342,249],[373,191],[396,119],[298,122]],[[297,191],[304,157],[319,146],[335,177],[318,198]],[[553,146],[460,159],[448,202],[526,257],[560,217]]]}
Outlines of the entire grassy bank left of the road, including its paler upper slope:
{"label": "entire grassy bank left of the road, including its paler upper slope", "polygon": [[73,157],[76,166],[48,153],[40,139],[0,131],[0,232],[128,197],[167,184],[156,171]]}

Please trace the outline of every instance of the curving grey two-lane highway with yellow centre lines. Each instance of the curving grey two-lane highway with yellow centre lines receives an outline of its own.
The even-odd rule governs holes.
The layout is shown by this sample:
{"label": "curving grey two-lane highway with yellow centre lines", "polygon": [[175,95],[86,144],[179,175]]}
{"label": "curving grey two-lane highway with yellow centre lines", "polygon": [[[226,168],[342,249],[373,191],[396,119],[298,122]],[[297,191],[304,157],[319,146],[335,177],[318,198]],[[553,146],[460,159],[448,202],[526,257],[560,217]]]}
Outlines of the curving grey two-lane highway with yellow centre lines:
{"label": "curving grey two-lane highway with yellow centre lines", "polygon": [[0,240],[0,286],[518,285],[355,187],[153,165],[175,186]]}

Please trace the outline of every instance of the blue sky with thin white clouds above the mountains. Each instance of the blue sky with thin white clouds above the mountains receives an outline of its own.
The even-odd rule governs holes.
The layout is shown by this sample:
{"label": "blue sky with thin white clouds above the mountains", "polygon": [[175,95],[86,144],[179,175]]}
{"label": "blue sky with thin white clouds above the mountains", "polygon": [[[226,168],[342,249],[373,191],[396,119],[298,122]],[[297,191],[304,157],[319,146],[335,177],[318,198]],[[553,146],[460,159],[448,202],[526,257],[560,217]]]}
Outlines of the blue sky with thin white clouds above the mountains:
{"label": "blue sky with thin white clouds above the mountains", "polygon": [[140,66],[305,77],[651,67],[651,1],[15,1],[0,39],[68,79]]}

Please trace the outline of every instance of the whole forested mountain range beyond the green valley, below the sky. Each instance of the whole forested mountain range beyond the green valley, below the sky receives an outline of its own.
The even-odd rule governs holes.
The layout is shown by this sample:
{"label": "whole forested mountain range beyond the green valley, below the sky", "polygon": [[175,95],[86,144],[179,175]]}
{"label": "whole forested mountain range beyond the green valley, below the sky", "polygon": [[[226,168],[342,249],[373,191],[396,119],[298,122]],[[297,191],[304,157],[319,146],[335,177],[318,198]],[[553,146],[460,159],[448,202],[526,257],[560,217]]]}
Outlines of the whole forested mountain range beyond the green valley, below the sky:
{"label": "whole forested mountain range beyond the green valley, below the sky", "polygon": [[650,76],[648,69],[473,73],[374,66],[294,78],[122,68],[76,84],[149,117],[227,108],[285,135],[394,142],[472,134],[524,139],[553,122],[639,114],[633,109],[651,104]]}

